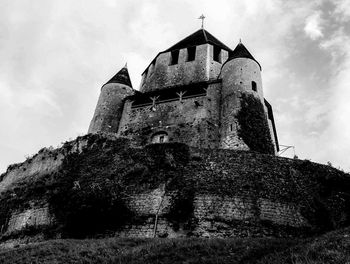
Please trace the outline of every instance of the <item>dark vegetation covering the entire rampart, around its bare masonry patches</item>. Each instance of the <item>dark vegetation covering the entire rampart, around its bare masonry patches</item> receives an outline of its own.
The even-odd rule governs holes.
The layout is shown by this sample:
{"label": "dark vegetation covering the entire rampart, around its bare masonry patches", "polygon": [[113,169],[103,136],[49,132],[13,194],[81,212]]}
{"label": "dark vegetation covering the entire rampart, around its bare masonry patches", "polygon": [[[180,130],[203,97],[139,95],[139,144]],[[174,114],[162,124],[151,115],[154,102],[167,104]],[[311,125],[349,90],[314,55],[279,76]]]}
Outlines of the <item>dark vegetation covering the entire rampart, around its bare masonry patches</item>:
{"label": "dark vegetation covering the entire rampart, around its bare masonry patches", "polygon": [[[79,148],[81,152],[74,150]],[[201,194],[250,199],[256,216],[248,224],[218,219],[242,229],[242,235],[260,236],[267,231],[271,236],[305,236],[350,224],[350,177],[330,166],[247,151],[193,150],[196,154],[191,158],[184,144],[132,149],[125,139],[102,135],[78,138],[60,151],[66,156],[59,171],[16,182],[0,195],[0,225],[6,225],[15,210],[48,203],[57,222],[43,231],[47,237],[114,233],[124,223],[147,220],[145,215],[134,214],[126,201],[159,186],[165,186],[165,193],[172,197],[163,217],[175,231],[180,225],[188,231],[195,226],[194,197]],[[259,221],[259,199],[295,206],[310,226]]]}

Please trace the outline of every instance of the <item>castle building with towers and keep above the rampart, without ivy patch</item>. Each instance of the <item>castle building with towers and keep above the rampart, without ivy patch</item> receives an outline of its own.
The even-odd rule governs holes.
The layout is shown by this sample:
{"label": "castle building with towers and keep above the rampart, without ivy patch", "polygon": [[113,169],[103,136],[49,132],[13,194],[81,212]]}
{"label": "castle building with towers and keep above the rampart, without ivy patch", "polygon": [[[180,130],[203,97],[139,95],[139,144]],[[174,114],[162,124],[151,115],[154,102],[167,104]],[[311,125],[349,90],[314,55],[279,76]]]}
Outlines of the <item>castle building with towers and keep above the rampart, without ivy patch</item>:
{"label": "castle building with towers and keep above the rampart, without ivy patch", "polygon": [[126,66],[104,84],[89,133],[116,133],[138,146],[181,142],[199,148],[249,150],[252,147],[238,133],[242,94],[262,103],[277,152],[276,127],[263,95],[259,62],[241,42],[231,50],[202,28],[158,53],[143,72],[139,91],[133,89]]}

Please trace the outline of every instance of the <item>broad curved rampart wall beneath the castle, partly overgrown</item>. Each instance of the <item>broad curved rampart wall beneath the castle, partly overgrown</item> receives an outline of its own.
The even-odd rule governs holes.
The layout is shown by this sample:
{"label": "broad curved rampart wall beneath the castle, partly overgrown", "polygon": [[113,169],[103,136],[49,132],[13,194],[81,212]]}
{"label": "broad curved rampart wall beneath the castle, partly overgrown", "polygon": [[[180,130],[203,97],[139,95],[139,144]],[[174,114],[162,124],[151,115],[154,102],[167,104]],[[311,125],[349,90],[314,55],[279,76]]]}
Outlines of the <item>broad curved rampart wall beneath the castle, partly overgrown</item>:
{"label": "broad curved rampart wall beneath the castle, partly overgrown", "polygon": [[[110,202],[122,205],[118,208],[126,212],[123,221],[121,215],[110,215],[119,221],[113,232],[130,237],[307,236],[350,221],[349,175],[329,166],[247,151],[188,149],[182,144],[132,149],[127,142],[87,135],[68,143],[65,150],[55,150],[64,159],[47,178],[46,191],[42,185],[35,191],[37,182],[46,179],[39,174],[26,178],[21,173],[15,180],[13,175],[26,163],[10,168],[3,179],[12,175],[12,182],[0,194],[1,203],[12,206],[2,222],[3,235],[57,228],[64,210],[83,210],[84,222],[77,224],[88,228],[95,223],[89,223],[85,210],[93,209],[94,199],[99,200],[98,210],[107,210]],[[44,160],[51,154],[46,155]],[[43,171],[52,167],[34,160]],[[57,186],[54,179],[65,186]],[[50,198],[62,191],[63,211]],[[21,195],[26,202],[18,199]],[[94,221],[105,220],[94,214]]]}

